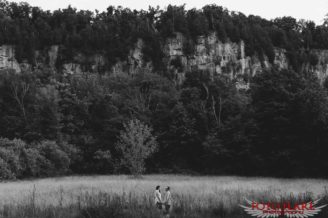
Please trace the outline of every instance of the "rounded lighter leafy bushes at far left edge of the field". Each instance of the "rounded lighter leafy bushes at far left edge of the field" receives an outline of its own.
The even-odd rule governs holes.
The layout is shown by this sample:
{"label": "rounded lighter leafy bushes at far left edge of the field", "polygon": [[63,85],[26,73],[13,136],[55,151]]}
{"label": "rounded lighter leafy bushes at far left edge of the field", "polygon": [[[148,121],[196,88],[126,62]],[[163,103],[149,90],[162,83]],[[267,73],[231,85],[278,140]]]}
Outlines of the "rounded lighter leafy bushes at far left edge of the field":
{"label": "rounded lighter leafy bushes at far left edge of the field", "polygon": [[28,145],[20,139],[0,138],[0,179],[52,176],[66,173],[78,150],[53,141]]}

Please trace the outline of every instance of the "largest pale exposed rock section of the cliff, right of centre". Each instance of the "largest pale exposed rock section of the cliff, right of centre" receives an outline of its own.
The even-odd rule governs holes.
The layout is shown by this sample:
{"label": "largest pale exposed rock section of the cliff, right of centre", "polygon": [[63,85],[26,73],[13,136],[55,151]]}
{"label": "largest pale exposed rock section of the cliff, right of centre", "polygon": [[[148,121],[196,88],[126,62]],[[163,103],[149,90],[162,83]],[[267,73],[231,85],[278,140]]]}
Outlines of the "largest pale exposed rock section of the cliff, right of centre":
{"label": "largest pale exposed rock section of the cliff, right of centre", "polygon": [[[246,56],[243,41],[239,43],[223,43],[218,40],[215,33],[212,33],[207,37],[199,37],[194,53],[189,56],[184,55],[182,52],[184,41],[184,37],[181,34],[177,34],[176,38],[167,40],[164,49],[169,65],[174,60],[181,60],[183,70],[180,73],[197,69],[216,74],[226,74],[231,79],[238,79],[243,77],[243,75],[253,76],[258,71],[263,70],[263,68],[271,67],[266,57],[261,62],[257,56]],[[274,65],[282,69],[288,68],[287,58],[283,49],[275,49]]]}

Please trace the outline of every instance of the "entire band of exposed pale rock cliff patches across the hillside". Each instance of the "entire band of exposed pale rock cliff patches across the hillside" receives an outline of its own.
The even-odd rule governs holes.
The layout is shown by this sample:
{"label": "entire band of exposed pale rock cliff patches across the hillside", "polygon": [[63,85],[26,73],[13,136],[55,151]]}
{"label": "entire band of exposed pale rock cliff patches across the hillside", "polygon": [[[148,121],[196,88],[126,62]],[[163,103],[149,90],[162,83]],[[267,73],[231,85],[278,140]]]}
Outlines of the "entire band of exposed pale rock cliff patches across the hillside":
{"label": "entire band of exposed pale rock cliff patches across the hillside", "polygon": [[[185,37],[176,33],[173,38],[162,43],[164,53],[164,64],[173,73],[178,82],[182,82],[184,75],[188,71],[201,70],[209,71],[212,74],[225,74],[231,79],[236,79],[237,87],[247,88],[249,76],[254,76],[257,72],[265,68],[275,66],[279,69],[289,67],[286,51],[275,48],[275,59],[269,63],[268,58],[258,56],[246,56],[245,44],[221,42],[215,33],[208,36],[198,37],[192,48],[192,52],[185,54],[184,45],[187,42]],[[53,45],[47,51],[36,52],[36,65],[45,64],[48,67],[57,69],[66,74],[76,74],[83,72],[108,72],[108,73],[129,73],[138,71],[152,71],[152,63],[145,63],[142,54],[144,42],[140,39],[135,44],[125,61],[118,61],[108,69],[108,60],[101,53],[86,56],[75,54],[72,61],[64,62],[60,66],[57,64],[60,56],[60,46]],[[328,50],[314,50],[318,57],[316,66],[309,67],[315,72],[319,79],[323,81],[328,75]],[[13,69],[16,72],[28,68],[26,63],[18,63],[15,59],[15,49],[11,45],[0,46],[0,69]],[[113,57],[114,58],[114,57]]]}

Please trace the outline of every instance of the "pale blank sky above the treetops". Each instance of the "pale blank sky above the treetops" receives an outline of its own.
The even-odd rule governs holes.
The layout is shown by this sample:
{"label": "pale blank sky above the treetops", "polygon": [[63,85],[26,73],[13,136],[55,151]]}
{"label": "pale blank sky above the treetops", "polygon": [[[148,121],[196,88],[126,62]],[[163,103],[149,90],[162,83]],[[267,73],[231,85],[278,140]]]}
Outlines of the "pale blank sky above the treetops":
{"label": "pale blank sky above the treetops", "polygon": [[95,9],[104,11],[109,5],[148,9],[149,5],[159,5],[163,8],[168,4],[181,5],[186,3],[186,8],[189,9],[201,8],[206,4],[217,4],[246,15],[260,15],[267,19],[292,16],[297,19],[313,20],[317,24],[321,24],[328,13],[328,0],[25,0],[25,2],[46,10],[65,8],[70,4],[78,9],[92,11]]}

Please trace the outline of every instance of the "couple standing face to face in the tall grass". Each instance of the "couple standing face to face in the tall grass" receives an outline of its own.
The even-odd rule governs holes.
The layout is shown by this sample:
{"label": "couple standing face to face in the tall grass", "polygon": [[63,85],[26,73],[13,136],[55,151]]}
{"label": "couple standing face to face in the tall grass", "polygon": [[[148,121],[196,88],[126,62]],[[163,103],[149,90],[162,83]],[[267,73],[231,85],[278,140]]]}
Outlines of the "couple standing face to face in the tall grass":
{"label": "couple standing face to face in the tall grass", "polygon": [[155,205],[156,207],[161,211],[163,210],[165,217],[170,217],[170,212],[172,209],[172,197],[171,197],[171,192],[170,192],[170,187],[167,186],[165,188],[165,195],[164,198],[162,199],[162,194],[161,194],[161,187],[158,185],[156,186],[155,190]]}

